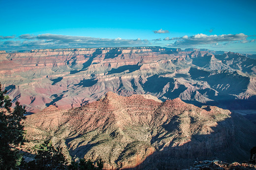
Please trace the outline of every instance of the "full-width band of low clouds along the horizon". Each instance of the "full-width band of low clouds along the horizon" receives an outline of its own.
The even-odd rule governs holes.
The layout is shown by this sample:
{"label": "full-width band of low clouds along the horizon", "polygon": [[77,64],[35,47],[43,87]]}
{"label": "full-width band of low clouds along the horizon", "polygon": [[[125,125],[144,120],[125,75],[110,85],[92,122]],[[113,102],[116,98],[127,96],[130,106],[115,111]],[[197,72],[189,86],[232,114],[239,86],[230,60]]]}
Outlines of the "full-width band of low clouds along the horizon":
{"label": "full-width band of low clouds along the horizon", "polygon": [[[161,29],[160,29],[161,30]],[[164,41],[162,41],[164,40]],[[238,45],[241,43],[241,45]],[[95,38],[85,36],[70,36],[58,34],[22,34],[20,36],[0,36],[0,50],[31,50],[31,49],[57,49],[57,48],[97,48],[97,47],[136,47],[136,46],[169,46],[174,48],[215,48],[230,51],[232,44],[236,47],[245,46],[250,43],[250,48],[254,51],[256,39],[252,36],[239,34],[205,35],[195,34],[192,36],[165,37],[148,40],[122,39],[122,38]],[[234,47],[234,46],[233,46]],[[233,48],[236,49],[236,48]]]}

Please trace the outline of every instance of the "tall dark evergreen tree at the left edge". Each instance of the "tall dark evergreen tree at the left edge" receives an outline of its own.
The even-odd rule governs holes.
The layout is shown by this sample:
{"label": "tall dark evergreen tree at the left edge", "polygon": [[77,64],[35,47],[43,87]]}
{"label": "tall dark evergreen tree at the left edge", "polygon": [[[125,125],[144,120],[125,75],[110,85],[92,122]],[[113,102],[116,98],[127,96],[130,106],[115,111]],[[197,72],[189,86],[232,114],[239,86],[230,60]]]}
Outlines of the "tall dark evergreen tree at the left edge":
{"label": "tall dark evergreen tree at the left edge", "polygon": [[24,142],[22,119],[26,117],[25,107],[17,101],[11,110],[11,99],[2,91],[0,84],[0,169],[14,169],[21,164],[22,155],[16,148]]}

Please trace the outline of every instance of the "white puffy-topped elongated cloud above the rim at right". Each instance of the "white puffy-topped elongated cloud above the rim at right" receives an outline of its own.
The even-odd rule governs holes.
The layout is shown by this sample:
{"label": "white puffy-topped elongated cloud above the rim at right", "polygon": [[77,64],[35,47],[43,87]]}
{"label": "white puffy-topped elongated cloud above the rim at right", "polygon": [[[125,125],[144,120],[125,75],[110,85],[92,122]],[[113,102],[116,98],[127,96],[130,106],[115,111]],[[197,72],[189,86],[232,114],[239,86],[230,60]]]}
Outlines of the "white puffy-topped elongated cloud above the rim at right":
{"label": "white puffy-topped elongated cloud above the rim at right", "polygon": [[244,33],[239,34],[222,34],[222,35],[205,35],[205,34],[196,34],[192,36],[182,36],[182,37],[174,37],[169,38],[166,37],[164,40],[174,40],[174,43],[171,46],[194,46],[194,45],[202,45],[202,44],[216,44],[222,42],[241,42],[248,43],[253,42],[247,40],[248,35]]}

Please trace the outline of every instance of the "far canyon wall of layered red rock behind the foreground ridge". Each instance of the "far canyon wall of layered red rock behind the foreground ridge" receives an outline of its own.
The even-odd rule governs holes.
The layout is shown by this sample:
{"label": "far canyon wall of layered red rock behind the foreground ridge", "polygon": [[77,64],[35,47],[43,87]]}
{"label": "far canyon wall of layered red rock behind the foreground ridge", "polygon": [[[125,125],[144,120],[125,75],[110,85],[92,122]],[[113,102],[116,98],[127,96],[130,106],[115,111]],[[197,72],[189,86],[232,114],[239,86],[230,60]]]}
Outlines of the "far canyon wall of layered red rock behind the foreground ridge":
{"label": "far canyon wall of layered red rock behind the foreground ridge", "polygon": [[179,97],[202,106],[256,109],[256,59],[237,53],[160,47],[0,52],[8,95],[38,112],[70,109],[108,91],[123,96]]}

